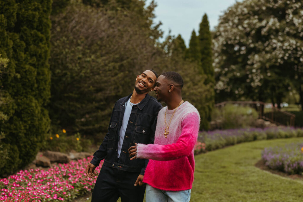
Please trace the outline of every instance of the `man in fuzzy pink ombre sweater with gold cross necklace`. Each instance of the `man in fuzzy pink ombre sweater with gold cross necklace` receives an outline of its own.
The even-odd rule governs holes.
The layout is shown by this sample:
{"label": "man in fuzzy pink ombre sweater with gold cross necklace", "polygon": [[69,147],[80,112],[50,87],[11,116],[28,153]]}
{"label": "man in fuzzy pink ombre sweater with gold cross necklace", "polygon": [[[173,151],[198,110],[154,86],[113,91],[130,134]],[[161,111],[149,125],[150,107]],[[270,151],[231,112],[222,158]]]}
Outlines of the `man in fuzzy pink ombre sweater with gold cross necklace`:
{"label": "man in fuzzy pink ombre sweater with gold cross necklace", "polygon": [[158,113],[155,142],[128,149],[131,160],[150,159],[143,179],[147,202],[190,200],[200,116],[192,104],[182,100],[182,87],[183,79],[177,72],[158,77],[154,91],[167,107]]}

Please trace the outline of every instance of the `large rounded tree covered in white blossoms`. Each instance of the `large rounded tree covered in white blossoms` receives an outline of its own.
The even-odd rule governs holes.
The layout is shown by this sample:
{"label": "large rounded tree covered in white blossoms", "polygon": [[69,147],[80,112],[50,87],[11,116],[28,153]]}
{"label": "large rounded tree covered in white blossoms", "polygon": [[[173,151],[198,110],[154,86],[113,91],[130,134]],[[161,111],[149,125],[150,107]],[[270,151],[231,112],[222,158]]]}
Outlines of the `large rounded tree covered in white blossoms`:
{"label": "large rounded tree covered in white blossoms", "polygon": [[302,0],[245,0],[220,17],[214,43],[219,100],[281,102],[291,87],[303,104]]}

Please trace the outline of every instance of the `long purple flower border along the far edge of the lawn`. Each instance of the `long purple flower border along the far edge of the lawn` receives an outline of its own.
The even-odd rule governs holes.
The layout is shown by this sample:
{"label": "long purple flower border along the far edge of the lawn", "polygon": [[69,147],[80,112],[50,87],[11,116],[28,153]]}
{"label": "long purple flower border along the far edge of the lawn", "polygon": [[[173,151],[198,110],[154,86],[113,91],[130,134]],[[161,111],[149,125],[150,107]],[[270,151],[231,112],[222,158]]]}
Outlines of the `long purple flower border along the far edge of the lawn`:
{"label": "long purple flower border along the far edge of the lawn", "polygon": [[212,151],[241,142],[288,137],[303,137],[303,128],[270,127],[203,131],[199,133],[198,141],[206,144],[206,151]]}

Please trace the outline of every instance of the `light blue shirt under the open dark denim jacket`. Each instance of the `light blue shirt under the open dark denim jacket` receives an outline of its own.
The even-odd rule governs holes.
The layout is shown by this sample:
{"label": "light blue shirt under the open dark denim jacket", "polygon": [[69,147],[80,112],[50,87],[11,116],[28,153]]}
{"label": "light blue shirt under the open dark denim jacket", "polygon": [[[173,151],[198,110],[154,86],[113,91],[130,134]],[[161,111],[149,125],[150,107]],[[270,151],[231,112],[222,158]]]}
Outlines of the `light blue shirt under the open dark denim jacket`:
{"label": "light blue shirt under the open dark denim jacket", "polygon": [[125,111],[123,115],[122,126],[119,131],[118,158],[120,157],[125,131],[128,124],[128,119],[132,112],[132,105],[134,105],[133,103],[130,102],[130,99],[131,98],[129,98],[128,101],[125,103]]}

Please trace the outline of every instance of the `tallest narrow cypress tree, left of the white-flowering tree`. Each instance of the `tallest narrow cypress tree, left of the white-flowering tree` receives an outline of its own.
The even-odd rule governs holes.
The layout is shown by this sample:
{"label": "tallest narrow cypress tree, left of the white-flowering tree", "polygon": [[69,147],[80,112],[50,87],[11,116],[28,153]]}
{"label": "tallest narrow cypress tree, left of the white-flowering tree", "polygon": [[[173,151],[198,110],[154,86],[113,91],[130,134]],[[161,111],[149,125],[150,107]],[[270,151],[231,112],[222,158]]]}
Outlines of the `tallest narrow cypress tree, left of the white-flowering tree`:
{"label": "tallest narrow cypress tree, left of the white-flowering tree", "polygon": [[[211,89],[214,89],[215,85],[215,71],[212,66],[212,51],[211,51],[211,33],[209,31],[209,23],[207,15],[204,14],[202,22],[200,23],[199,29],[199,49],[200,49],[200,65],[201,73],[206,76],[204,81],[205,85],[210,85]],[[215,92],[211,91],[211,94],[208,95],[207,101],[205,103],[204,111],[205,116],[201,117],[201,128],[208,129],[208,121],[211,121],[211,112],[215,104]]]}

